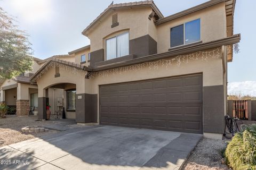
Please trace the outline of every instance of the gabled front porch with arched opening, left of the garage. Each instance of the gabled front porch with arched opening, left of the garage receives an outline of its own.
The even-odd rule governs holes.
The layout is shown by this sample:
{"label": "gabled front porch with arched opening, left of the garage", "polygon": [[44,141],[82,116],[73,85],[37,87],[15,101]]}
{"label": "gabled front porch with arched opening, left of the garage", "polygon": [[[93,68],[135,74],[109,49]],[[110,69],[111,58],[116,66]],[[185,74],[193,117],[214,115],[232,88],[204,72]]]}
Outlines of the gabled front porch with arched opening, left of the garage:
{"label": "gabled front porch with arched opening, left of the garage", "polygon": [[38,119],[46,119],[46,104],[52,106],[53,114],[60,112],[58,96],[67,118],[75,118],[77,123],[97,123],[97,95],[89,94],[91,87],[86,74],[83,66],[61,60],[51,60],[42,66],[31,77],[31,82],[38,86]]}

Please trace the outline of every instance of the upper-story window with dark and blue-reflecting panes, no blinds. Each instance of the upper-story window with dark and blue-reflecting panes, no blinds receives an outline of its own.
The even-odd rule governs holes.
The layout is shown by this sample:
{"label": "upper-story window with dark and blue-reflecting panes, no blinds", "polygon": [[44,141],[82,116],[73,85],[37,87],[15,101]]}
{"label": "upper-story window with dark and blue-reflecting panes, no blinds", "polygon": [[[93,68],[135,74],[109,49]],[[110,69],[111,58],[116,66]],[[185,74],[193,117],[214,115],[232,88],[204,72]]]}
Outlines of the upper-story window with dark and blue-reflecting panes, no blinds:
{"label": "upper-story window with dark and blue-reflecting panes, no blinds", "polygon": [[171,28],[171,47],[194,43],[200,39],[200,19]]}

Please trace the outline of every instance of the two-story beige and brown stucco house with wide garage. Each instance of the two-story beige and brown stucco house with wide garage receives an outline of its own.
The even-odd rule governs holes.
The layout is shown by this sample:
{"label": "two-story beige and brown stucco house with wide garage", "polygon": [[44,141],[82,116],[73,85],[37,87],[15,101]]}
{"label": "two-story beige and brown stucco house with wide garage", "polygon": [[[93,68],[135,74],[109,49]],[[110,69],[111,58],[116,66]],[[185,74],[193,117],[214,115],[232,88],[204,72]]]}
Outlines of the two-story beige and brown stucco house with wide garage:
{"label": "two-story beige and brown stucco house with wide garage", "polygon": [[[153,1],[110,4],[82,34],[90,45],[49,58],[30,78],[38,118],[62,89],[77,123],[201,133],[221,138],[235,0],[164,17]],[[54,97],[53,97],[54,98]]]}

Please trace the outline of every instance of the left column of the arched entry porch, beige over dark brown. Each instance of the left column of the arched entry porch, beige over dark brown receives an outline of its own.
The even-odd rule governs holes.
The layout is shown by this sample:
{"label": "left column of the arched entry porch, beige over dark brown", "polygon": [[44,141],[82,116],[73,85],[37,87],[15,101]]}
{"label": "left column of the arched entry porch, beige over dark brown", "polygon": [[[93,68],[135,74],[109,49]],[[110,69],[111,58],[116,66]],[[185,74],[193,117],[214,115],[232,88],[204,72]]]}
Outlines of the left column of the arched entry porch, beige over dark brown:
{"label": "left column of the arched entry porch, beige over dark brown", "polygon": [[49,99],[47,96],[46,89],[38,86],[38,119],[40,120],[46,119],[46,102]]}

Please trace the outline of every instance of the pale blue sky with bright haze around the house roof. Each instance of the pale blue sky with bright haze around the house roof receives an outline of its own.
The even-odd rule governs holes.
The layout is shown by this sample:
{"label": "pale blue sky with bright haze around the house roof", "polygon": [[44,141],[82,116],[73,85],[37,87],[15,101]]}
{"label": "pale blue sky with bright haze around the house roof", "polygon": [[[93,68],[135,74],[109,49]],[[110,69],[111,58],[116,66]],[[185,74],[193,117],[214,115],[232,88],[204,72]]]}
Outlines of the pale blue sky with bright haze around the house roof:
{"label": "pale blue sky with bright haze around the house roof", "polygon": [[[155,0],[164,16],[168,16],[207,0]],[[34,56],[47,58],[52,55],[67,54],[71,50],[89,45],[90,41],[81,32],[89,25],[112,0],[0,0],[0,6],[16,17],[17,25],[26,30],[33,44]],[[130,2],[116,0],[114,3]],[[228,64],[228,81],[256,84],[256,1],[237,0],[235,8],[234,33],[241,33],[241,52],[234,55]],[[254,21],[254,22],[253,22]],[[250,87],[247,91],[250,92]],[[229,88],[230,89],[230,88]],[[234,88],[233,88],[234,90]],[[244,89],[242,89],[244,90]],[[247,93],[247,92],[246,92]],[[256,92],[253,95],[256,96]]]}

